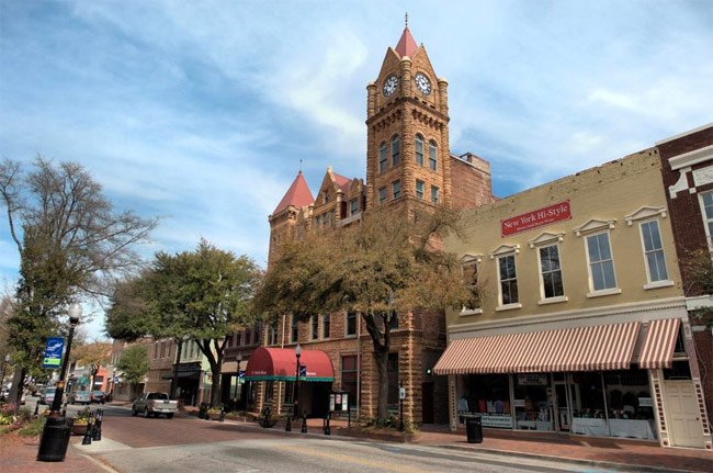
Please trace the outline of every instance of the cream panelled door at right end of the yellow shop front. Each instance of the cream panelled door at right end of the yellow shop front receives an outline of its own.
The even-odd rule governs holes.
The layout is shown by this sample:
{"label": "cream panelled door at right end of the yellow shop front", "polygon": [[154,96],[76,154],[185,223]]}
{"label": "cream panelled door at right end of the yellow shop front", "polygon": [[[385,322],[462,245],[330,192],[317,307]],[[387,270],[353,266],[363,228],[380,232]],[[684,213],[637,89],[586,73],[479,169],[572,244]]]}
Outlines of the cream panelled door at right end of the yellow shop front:
{"label": "cream panelled door at right end of the yellow shop front", "polygon": [[703,447],[703,428],[693,383],[690,380],[664,381],[664,391],[671,444]]}

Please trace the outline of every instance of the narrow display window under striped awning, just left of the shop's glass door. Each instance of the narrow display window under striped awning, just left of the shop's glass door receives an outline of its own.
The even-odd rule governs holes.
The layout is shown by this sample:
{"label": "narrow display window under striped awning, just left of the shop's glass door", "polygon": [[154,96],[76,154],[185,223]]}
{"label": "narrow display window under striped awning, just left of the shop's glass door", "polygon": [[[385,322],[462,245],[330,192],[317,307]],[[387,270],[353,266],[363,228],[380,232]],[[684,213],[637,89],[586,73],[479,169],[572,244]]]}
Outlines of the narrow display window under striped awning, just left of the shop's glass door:
{"label": "narrow display window under striped awning, just left of the shop's glass door", "polygon": [[548,401],[547,373],[513,374],[516,428],[554,430],[553,408]]}

